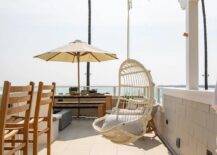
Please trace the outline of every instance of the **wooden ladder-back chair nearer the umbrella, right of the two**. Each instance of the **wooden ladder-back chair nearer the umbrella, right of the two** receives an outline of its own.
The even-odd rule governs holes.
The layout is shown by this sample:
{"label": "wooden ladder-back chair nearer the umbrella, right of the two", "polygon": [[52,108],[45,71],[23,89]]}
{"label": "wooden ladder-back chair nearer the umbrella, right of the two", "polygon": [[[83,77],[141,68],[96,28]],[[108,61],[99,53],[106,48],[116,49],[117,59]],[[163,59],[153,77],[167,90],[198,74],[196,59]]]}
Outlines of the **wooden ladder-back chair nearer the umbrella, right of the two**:
{"label": "wooden ladder-back chair nearer the umbrella, right of the two", "polygon": [[[47,155],[51,154],[51,127],[52,127],[52,111],[55,94],[55,83],[52,85],[44,85],[42,82],[38,86],[38,94],[35,106],[34,118],[30,120],[30,133],[33,133],[33,155],[38,153],[38,138],[42,134],[47,135]],[[39,116],[43,106],[47,107],[47,116]],[[46,127],[39,129],[39,124],[45,122]]]}

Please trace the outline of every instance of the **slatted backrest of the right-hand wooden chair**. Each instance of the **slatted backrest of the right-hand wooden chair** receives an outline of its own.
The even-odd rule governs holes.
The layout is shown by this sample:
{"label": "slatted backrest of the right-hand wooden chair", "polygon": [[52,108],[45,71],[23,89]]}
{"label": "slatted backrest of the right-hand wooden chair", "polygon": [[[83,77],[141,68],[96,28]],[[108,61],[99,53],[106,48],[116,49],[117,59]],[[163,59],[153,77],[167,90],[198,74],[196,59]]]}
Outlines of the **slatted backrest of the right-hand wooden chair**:
{"label": "slatted backrest of the right-hand wooden chair", "polygon": [[54,93],[55,93],[55,83],[52,85],[44,85],[43,82],[39,82],[35,114],[34,114],[34,130],[38,126],[38,118],[40,117],[40,109],[43,105],[47,105],[47,118],[51,117],[52,107],[54,102]]}

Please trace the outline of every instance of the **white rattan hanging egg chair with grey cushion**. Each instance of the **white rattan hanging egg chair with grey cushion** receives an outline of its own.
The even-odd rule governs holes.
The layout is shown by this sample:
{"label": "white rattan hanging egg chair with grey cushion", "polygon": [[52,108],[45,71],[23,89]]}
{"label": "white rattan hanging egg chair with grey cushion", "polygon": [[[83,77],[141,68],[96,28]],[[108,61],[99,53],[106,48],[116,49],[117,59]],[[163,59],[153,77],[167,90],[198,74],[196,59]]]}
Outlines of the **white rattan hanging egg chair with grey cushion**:
{"label": "white rattan hanging egg chair with grey cushion", "polygon": [[133,59],[119,69],[119,97],[111,114],[98,118],[93,127],[115,143],[131,143],[146,133],[151,119],[154,83],[150,71]]}

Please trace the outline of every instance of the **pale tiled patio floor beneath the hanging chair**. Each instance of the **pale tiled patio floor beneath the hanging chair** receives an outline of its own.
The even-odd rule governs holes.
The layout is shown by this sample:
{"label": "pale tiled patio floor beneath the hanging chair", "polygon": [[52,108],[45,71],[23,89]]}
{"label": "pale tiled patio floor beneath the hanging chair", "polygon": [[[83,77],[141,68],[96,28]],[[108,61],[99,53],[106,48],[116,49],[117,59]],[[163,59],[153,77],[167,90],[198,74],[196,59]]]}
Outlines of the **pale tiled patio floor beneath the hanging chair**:
{"label": "pale tiled patio floor beneath the hanging chair", "polygon": [[[120,145],[97,134],[92,128],[93,119],[73,120],[60,132],[52,144],[52,155],[168,155],[167,148],[158,137],[146,135],[134,144]],[[46,154],[46,149],[39,152]]]}

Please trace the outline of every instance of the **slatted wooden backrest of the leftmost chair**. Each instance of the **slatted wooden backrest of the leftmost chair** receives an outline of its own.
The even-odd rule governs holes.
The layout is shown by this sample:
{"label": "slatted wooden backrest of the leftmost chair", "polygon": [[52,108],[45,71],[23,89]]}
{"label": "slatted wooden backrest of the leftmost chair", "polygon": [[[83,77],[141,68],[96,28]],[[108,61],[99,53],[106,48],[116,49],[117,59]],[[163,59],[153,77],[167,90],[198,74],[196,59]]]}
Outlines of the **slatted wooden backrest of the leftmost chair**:
{"label": "slatted wooden backrest of the leftmost chair", "polygon": [[[34,83],[30,82],[28,86],[11,86],[8,81],[4,82],[2,101],[0,106],[0,151],[4,145],[4,132],[6,119],[11,114],[19,115],[20,112],[24,113],[24,132],[28,132],[30,109],[34,91]],[[21,94],[25,94],[20,96]],[[15,104],[16,103],[16,104]],[[11,105],[11,106],[9,106]],[[27,137],[28,138],[28,137]],[[0,152],[2,153],[2,152]]]}

